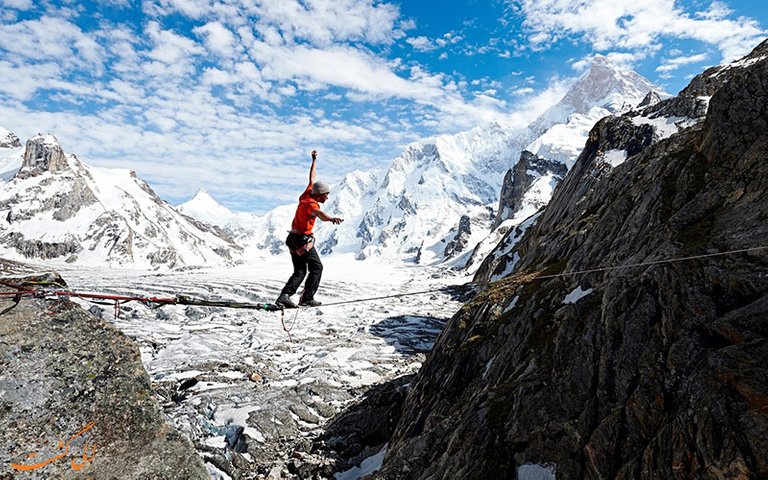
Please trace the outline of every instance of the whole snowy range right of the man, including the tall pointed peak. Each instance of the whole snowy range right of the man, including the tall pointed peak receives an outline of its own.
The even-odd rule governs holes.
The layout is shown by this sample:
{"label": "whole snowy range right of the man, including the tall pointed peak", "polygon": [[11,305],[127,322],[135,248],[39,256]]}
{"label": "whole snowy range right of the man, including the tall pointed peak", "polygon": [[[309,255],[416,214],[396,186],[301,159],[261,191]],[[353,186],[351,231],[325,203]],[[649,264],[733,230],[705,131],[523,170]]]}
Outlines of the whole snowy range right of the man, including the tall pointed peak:
{"label": "whole snowy range right of the man, including the tall pointed peak", "polygon": [[[507,218],[519,224],[549,201],[600,118],[631,109],[653,90],[642,76],[598,56],[563,99],[526,128],[492,123],[413,143],[386,171],[355,172],[332,191],[328,210],[346,221],[318,228],[321,252],[461,264],[492,227]],[[512,167],[524,150],[542,168],[516,174]],[[505,172],[510,182],[525,177],[517,204],[506,210],[499,204]],[[498,212],[505,216],[497,218]]]}

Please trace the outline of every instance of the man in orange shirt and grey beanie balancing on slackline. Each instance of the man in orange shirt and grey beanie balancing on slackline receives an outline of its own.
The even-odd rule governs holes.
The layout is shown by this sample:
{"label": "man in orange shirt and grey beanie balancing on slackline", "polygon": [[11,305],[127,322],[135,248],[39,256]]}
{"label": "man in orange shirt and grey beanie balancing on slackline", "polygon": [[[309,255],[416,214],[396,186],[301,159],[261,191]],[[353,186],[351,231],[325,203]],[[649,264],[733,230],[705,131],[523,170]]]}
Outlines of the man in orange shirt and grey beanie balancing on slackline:
{"label": "man in orange shirt and grey beanie balancing on slackline", "polygon": [[282,308],[297,308],[297,305],[291,300],[291,295],[296,293],[304,276],[309,276],[304,285],[304,293],[299,299],[299,305],[308,307],[317,307],[320,302],[315,300],[315,292],[320,285],[320,276],[323,273],[323,264],[320,261],[320,255],[315,248],[315,237],[312,235],[312,229],[315,226],[315,219],[319,218],[324,222],[331,222],[335,225],[344,221],[340,217],[331,217],[320,210],[320,204],[328,200],[328,194],[331,189],[328,184],[317,180],[317,150],[312,150],[312,166],[309,167],[309,185],[304,193],[299,197],[299,206],[296,207],[296,215],[293,217],[291,231],[285,244],[291,251],[291,262],[293,262],[293,275],[280,292],[280,296],[275,302]]}

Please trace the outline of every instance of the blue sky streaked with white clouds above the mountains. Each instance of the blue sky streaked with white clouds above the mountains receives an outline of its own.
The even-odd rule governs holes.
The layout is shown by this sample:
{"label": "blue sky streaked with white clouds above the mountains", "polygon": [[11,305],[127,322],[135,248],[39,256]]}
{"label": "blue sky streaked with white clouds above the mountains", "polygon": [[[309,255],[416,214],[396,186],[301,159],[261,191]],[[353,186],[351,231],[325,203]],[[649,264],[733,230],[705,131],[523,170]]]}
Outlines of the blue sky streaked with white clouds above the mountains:
{"label": "blue sky streaked with white clouds above the mountains", "polygon": [[0,0],[0,126],[166,200],[293,203],[410,142],[522,126],[595,54],[677,93],[768,33],[768,2]]}

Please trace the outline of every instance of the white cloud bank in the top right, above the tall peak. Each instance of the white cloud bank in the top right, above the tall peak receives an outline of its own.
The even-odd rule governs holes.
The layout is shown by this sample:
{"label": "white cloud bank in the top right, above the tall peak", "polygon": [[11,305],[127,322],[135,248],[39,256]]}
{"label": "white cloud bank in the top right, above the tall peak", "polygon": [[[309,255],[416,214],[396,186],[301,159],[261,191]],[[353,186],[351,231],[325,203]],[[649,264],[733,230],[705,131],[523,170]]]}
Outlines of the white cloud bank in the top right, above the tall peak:
{"label": "white cloud bank in the top right, above the tall peak", "polygon": [[674,0],[521,0],[520,11],[534,49],[568,36],[583,36],[597,50],[644,49],[665,37],[699,40],[720,49],[723,61],[749,52],[765,35],[754,19],[727,18],[716,2],[690,15]]}

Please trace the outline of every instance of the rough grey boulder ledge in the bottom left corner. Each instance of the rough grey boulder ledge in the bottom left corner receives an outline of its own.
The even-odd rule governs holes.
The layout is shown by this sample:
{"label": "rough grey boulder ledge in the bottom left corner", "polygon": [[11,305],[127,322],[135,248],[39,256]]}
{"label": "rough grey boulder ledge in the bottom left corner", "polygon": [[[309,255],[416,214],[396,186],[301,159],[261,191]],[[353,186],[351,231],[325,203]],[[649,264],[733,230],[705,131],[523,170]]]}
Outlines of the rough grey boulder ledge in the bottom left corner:
{"label": "rough grey boulder ledge in the bottom left corner", "polygon": [[128,337],[71,302],[23,298],[0,315],[0,479],[11,478],[209,475]]}

